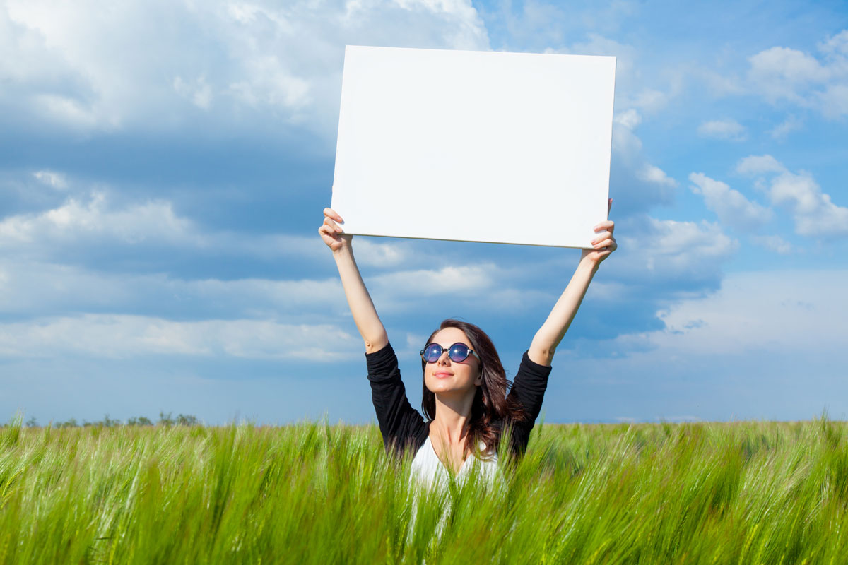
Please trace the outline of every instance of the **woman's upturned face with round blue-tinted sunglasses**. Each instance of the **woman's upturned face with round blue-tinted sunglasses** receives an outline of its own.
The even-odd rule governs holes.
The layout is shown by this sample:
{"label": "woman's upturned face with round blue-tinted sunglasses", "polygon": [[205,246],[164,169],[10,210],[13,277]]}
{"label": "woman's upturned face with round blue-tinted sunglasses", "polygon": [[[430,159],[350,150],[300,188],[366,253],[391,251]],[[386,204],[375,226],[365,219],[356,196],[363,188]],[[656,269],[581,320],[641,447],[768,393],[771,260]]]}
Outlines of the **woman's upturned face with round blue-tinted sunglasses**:
{"label": "woman's upturned face with round blue-tinted sunglasses", "polygon": [[430,342],[438,343],[445,351],[438,361],[424,365],[424,384],[427,385],[427,390],[435,394],[467,394],[469,391],[473,393],[482,383],[477,357],[470,354],[465,361],[457,363],[448,357],[447,351],[455,343],[464,343],[469,349],[473,349],[466,333],[459,328],[445,328],[438,330]]}

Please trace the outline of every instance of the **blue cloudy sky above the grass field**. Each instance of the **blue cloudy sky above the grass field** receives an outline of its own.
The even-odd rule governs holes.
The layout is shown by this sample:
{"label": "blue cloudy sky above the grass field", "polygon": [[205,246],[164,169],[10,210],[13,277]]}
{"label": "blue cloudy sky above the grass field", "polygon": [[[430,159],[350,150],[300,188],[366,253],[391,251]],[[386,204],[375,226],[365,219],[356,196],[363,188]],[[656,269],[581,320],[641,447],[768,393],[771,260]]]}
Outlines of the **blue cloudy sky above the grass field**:
{"label": "blue cloudy sky above the grass field", "polygon": [[[619,250],[545,422],[848,418],[841,0],[0,0],[0,421],[374,421],[317,234],[345,45],[617,57]],[[514,375],[579,257],[354,249],[413,406],[442,319]]]}

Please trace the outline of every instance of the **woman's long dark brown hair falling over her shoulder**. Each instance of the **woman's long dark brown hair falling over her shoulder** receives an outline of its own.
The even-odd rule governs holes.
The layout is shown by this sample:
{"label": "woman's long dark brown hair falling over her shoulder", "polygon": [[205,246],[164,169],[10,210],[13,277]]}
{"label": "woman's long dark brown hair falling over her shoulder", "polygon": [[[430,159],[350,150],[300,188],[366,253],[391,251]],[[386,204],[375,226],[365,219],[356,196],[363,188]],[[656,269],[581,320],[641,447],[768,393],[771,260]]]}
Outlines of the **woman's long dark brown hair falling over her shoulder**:
{"label": "woman's long dark brown hair falling over her shoulder", "polygon": [[[471,451],[477,457],[483,455],[480,450],[480,442],[485,444],[485,451],[493,453],[498,450],[501,434],[505,425],[510,422],[518,422],[527,418],[521,405],[513,398],[507,398],[506,393],[512,383],[506,379],[504,365],[500,363],[498,351],[494,343],[486,335],[486,332],[474,324],[462,322],[456,319],[446,319],[427,338],[427,343],[432,341],[439,330],[445,328],[456,328],[465,333],[468,341],[471,341],[471,349],[480,357],[480,368],[482,384],[477,387],[474,394],[474,402],[471,403],[471,418],[468,424],[468,435],[466,435],[466,450]],[[427,362],[421,359],[421,380]],[[421,411],[428,420],[436,417],[436,395],[427,389],[427,382],[423,382],[424,391],[421,394]]]}

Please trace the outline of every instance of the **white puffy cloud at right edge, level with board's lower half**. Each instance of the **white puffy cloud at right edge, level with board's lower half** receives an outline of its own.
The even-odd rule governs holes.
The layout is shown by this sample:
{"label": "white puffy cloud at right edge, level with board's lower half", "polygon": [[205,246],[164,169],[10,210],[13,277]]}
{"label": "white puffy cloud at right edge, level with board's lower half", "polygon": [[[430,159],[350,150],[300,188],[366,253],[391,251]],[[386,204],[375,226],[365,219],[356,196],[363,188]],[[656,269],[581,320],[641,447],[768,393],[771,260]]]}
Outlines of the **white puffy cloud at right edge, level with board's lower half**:
{"label": "white puffy cloud at right edge, level with board's lower half", "polygon": [[742,159],[736,167],[741,174],[760,175],[772,204],[792,214],[795,233],[811,236],[848,235],[848,208],[838,206],[824,193],[812,174],[793,173],[771,155]]}

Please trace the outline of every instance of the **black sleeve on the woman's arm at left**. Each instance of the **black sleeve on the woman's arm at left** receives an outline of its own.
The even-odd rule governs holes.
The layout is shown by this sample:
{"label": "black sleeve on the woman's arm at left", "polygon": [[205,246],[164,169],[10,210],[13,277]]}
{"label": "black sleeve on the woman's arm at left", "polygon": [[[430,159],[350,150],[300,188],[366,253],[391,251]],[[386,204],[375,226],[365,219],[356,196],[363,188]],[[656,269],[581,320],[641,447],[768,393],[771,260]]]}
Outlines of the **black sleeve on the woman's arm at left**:
{"label": "black sleeve on the woman's arm at left", "polygon": [[391,344],[380,351],[365,354],[368,380],[371,381],[371,400],[377,411],[382,442],[386,449],[400,453],[406,447],[417,449],[427,440],[427,424],[421,414],[410,406],[406,389],[400,379],[398,356]]}

